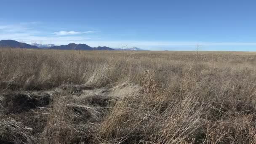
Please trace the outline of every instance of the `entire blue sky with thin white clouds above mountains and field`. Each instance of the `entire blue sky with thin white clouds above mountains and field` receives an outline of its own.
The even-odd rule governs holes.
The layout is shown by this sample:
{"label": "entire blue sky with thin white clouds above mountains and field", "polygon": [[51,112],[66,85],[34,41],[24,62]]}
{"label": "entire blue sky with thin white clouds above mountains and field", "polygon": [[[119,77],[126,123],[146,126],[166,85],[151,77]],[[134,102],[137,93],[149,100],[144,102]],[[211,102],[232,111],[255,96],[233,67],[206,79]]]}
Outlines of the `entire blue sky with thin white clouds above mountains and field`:
{"label": "entire blue sky with thin white clouds above mountains and field", "polygon": [[256,51],[255,0],[1,0],[0,40]]}

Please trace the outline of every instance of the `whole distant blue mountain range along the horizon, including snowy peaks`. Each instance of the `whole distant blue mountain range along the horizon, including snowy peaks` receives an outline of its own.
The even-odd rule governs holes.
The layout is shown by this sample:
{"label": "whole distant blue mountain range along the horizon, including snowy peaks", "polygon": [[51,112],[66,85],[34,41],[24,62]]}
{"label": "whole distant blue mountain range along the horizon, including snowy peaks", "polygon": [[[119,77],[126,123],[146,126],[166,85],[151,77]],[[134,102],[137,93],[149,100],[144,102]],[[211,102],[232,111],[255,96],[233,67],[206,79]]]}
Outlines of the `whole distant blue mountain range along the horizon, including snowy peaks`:
{"label": "whole distant blue mountain range along the horizon, including snowy peaks", "polygon": [[42,45],[37,43],[32,43],[29,45],[27,43],[20,43],[15,40],[0,40],[0,48],[43,48],[43,49],[59,49],[59,50],[85,50],[85,51],[147,51],[141,48],[109,48],[106,46],[99,46],[96,48],[90,47],[86,44],[75,44],[69,43],[68,45]]}

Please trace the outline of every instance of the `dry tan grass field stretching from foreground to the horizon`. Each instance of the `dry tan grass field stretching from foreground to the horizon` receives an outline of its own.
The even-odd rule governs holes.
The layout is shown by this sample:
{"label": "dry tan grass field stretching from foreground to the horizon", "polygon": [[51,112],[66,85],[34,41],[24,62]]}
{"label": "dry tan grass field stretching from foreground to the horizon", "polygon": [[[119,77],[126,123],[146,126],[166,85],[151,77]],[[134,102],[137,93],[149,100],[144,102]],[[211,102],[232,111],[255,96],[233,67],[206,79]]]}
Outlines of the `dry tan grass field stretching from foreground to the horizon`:
{"label": "dry tan grass field stretching from foreground to the horizon", "polygon": [[256,53],[0,49],[1,144],[256,143]]}

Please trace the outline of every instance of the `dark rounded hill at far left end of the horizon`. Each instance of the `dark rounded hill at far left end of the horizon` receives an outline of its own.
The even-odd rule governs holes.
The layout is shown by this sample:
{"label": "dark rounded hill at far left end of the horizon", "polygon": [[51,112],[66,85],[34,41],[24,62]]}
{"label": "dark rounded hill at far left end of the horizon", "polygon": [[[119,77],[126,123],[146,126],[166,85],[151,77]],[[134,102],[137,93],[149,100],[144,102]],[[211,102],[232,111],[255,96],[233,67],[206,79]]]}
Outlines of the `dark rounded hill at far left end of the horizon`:
{"label": "dark rounded hill at far left end of the horizon", "polygon": [[19,43],[15,40],[0,40],[0,48],[38,48],[35,45]]}

